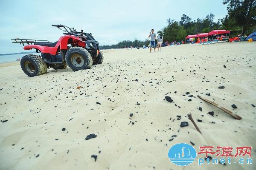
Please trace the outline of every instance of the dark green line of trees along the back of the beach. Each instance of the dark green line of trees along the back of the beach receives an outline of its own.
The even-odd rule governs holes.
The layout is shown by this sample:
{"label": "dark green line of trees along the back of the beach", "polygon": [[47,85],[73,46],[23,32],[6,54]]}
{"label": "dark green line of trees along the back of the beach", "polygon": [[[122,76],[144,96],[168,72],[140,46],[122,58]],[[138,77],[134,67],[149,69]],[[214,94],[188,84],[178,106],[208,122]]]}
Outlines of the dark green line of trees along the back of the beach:
{"label": "dark green line of trees along the back of the beach", "polygon": [[[227,4],[228,14],[221,19],[214,21],[214,14],[210,13],[205,18],[192,20],[183,14],[180,21],[167,19],[167,26],[157,31],[157,34],[164,37],[164,41],[173,42],[184,40],[186,35],[207,33],[213,29],[225,29],[231,31],[231,36],[237,34],[250,34],[256,31],[256,0],[223,0]],[[143,47],[148,45],[149,40],[123,40],[115,45],[102,45],[101,49]]]}

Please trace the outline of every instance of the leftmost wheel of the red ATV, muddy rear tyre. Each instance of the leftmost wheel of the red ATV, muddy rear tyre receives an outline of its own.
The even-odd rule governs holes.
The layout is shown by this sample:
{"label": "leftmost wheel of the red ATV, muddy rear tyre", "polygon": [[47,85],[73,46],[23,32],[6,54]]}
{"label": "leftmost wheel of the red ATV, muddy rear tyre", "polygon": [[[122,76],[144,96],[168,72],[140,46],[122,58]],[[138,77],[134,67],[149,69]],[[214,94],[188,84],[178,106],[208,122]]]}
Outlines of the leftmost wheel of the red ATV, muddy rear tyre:
{"label": "leftmost wheel of the red ATV, muddy rear tyre", "polygon": [[21,58],[20,66],[29,77],[47,73],[47,65],[40,56],[29,54]]}

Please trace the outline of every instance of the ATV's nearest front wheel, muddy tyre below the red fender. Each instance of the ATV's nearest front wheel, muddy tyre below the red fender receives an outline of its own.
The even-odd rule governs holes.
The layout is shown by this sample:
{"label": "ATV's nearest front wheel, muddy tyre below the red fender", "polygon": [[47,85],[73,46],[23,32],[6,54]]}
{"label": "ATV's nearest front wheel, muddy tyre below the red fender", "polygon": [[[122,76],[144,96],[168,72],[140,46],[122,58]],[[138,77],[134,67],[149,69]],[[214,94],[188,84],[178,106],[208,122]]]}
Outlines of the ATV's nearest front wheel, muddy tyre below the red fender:
{"label": "ATV's nearest front wheel, muddy tyre below the red fender", "polygon": [[72,47],[66,53],[67,65],[73,71],[81,69],[90,69],[93,65],[93,59],[90,53],[81,47]]}

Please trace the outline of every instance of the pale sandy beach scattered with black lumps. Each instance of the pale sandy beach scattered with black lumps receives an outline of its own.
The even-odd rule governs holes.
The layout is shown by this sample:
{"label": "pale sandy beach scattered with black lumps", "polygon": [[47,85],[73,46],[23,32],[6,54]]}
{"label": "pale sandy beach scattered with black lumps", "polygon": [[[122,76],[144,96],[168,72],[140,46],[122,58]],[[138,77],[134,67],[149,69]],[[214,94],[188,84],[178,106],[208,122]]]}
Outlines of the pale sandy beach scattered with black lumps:
{"label": "pale sandy beach scattered with black lumps", "polygon": [[[19,62],[0,64],[1,170],[198,170],[197,161],[188,167],[172,164],[168,151],[176,143],[193,143],[197,150],[252,146],[255,161],[256,42],[103,54],[102,65],[89,70],[50,68],[37,77],[24,74]],[[181,122],[189,125],[180,127]],[[90,134],[94,138],[88,139]],[[204,163],[200,169],[255,170],[256,165]]]}

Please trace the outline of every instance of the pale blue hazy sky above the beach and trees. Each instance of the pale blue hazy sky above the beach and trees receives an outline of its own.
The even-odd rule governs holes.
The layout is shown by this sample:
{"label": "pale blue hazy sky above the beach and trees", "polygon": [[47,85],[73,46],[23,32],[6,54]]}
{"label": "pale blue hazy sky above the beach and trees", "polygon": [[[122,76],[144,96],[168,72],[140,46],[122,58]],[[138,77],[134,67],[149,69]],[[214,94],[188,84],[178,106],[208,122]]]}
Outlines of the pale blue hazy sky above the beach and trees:
{"label": "pale blue hazy sky above the beach and trees", "polygon": [[0,54],[22,52],[11,38],[55,42],[63,32],[52,24],[63,24],[92,33],[99,45],[122,40],[145,40],[182,14],[193,20],[227,15],[222,0],[0,0]]}

